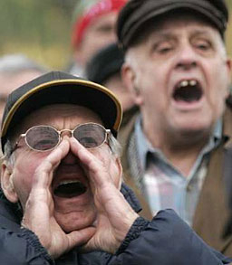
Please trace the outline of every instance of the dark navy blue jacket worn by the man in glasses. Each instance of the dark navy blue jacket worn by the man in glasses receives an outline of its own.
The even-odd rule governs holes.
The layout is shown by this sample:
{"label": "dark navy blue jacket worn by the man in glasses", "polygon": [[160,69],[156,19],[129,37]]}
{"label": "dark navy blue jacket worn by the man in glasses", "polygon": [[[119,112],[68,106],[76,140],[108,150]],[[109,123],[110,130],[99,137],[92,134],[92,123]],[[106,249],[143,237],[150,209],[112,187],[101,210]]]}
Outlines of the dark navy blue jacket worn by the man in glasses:
{"label": "dark navy blue jacket worn by the man in glasses", "polygon": [[[138,201],[126,186],[122,194],[139,211]],[[79,254],[73,249],[52,260],[36,235],[20,228],[22,215],[4,197],[0,201],[0,260],[5,265],[220,265],[227,259],[214,251],[172,210],[160,211],[151,222],[138,218],[121,247],[111,255],[103,251]]]}

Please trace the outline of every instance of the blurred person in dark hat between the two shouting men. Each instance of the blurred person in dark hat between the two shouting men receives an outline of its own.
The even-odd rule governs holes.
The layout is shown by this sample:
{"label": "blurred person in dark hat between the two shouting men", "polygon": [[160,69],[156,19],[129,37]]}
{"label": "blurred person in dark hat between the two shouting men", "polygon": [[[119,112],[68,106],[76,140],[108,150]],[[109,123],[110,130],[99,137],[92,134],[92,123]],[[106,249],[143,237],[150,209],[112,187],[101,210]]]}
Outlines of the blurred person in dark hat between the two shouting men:
{"label": "blurred person in dark hat between the two shouting men", "polygon": [[[128,122],[135,116],[138,107],[134,104],[131,92],[125,88],[121,80],[121,65],[124,62],[124,55],[117,43],[111,43],[97,52],[87,63],[86,75],[88,80],[100,83],[110,89],[120,99],[123,118],[119,131],[119,141],[121,142],[121,132],[127,128]],[[123,143],[121,143],[123,145]]]}

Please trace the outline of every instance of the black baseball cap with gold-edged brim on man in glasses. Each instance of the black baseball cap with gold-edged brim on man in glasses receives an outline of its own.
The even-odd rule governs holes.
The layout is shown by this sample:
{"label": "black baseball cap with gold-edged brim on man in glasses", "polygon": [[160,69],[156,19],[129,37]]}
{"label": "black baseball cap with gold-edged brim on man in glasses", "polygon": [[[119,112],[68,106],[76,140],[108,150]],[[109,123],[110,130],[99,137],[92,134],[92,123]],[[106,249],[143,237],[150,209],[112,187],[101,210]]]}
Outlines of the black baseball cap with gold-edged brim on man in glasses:
{"label": "black baseball cap with gold-edged brim on man in glasses", "polygon": [[121,103],[111,90],[62,71],[51,71],[14,90],[7,98],[1,128],[4,151],[15,126],[36,109],[53,104],[75,104],[92,109],[116,137],[121,124]]}

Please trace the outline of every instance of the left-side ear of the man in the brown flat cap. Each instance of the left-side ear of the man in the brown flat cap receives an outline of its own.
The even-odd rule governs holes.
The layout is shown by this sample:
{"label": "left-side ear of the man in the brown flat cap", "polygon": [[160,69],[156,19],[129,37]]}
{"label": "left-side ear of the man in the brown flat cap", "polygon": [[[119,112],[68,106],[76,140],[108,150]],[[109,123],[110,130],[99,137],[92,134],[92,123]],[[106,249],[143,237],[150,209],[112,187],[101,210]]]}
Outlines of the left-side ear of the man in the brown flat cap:
{"label": "left-side ear of the man in the brown flat cap", "polygon": [[125,88],[130,91],[134,103],[140,106],[142,104],[142,97],[139,85],[137,84],[137,74],[128,62],[124,62],[121,66],[121,80]]}

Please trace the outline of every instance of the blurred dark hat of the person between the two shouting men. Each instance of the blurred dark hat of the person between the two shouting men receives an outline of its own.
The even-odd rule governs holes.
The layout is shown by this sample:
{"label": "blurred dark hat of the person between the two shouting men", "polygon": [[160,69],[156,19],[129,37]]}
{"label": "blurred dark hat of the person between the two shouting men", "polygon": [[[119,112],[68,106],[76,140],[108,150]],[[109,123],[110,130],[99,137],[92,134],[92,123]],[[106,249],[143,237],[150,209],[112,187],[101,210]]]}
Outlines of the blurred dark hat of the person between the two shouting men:
{"label": "blurred dark hat of the person between the two shouting men", "polygon": [[86,67],[88,80],[102,84],[113,74],[121,71],[124,55],[117,43],[103,48],[92,57]]}

